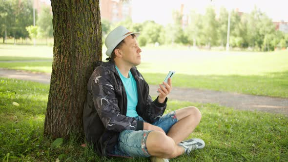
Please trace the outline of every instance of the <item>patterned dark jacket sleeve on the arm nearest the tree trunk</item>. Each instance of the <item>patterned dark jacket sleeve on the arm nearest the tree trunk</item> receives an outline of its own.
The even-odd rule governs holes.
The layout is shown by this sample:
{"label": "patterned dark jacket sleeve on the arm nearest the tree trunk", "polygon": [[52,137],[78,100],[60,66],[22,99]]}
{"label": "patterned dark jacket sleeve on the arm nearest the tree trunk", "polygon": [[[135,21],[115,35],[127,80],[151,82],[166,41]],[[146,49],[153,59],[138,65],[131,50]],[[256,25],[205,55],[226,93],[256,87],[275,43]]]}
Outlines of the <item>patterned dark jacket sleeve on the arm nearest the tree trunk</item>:
{"label": "patterned dark jacket sleeve on the arm nearest the tree trunk", "polygon": [[112,80],[113,72],[98,66],[91,81],[91,93],[94,106],[106,129],[121,132],[123,130],[143,130],[143,121],[120,114],[118,101]]}

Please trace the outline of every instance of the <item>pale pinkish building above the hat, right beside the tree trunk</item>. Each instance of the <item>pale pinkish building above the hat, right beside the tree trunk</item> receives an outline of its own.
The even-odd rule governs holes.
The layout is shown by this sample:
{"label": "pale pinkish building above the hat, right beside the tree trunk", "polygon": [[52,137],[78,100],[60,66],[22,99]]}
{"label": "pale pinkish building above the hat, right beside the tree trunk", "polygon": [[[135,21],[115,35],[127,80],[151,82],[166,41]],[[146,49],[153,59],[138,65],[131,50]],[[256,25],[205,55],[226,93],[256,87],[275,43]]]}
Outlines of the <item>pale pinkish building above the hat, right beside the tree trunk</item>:
{"label": "pale pinkish building above the hat, right beside the tree trunk", "polygon": [[132,5],[129,0],[100,0],[101,18],[111,23],[125,20],[131,17]]}

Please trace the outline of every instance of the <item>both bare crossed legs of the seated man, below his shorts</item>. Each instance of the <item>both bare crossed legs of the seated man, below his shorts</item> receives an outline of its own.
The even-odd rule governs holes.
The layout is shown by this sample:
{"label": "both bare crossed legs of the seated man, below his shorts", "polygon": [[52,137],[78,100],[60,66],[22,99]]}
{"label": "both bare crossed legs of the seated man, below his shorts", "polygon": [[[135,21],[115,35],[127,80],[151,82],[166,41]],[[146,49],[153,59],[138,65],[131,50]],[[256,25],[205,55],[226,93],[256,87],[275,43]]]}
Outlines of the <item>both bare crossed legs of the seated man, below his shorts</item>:
{"label": "both bare crossed legs of the seated man, below his shorts", "polygon": [[175,123],[168,134],[160,131],[149,133],[146,146],[151,156],[171,159],[185,152],[185,149],[178,145],[179,142],[187,138],[196,128],[201,120],[201,113],[196,107],[185,107],[176,110]]}

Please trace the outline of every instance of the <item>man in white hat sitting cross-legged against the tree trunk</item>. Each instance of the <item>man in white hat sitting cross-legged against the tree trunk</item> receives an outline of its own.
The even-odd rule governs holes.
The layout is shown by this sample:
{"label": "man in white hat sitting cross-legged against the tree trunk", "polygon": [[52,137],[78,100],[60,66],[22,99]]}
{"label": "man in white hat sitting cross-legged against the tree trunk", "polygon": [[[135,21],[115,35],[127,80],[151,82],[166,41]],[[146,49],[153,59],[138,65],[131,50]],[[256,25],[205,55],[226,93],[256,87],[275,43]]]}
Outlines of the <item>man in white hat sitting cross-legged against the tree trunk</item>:
{"label": "man in white hat sitting cross-legged against the tree trunk", "polygon": [[152,101],[149,86],[135,67],[141,63],[139,34],[123,26],[108,34],[109,61],[98,62],[88,81],[85,136],[100,156],[151,157],[153,162],[168,162],[205,146],[201,139],[183,141],[199,124],[201,113],[191,106],[162,116],[171,79],[160,84],[159,95]]}

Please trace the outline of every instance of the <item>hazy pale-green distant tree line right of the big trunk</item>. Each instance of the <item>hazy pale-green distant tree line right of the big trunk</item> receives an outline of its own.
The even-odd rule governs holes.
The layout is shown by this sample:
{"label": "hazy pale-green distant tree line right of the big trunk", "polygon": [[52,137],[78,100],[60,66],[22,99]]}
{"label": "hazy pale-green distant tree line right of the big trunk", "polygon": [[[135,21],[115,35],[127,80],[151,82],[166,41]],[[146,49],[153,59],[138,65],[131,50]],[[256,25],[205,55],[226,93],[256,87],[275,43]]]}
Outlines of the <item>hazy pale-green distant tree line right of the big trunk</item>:
{"label": "hazy pale-green distant tree line right of the big trunk", "polygon": [[[102,20],[103,39],[105,34],[118,25],[124,25],[130,30],[141,31],[138,39],[141,46],[147,43],[184,44],[210,48],[211,46],[226,46],[228,11],[222,7],[219,16],[213,7],[207,7],[205,15],[190,11],[188,23],[183,26],[183,15],[178,11],[172,13],[173,23],[163,25],[154,21],[132,23],[130,18],[110,24]],[[288,34],[276,30],[268,16],[256,7],[250,13],[240,13],[235,10],[230,15],[231,47],[252,48],[254,50],[272,51],[275,48],[288,47]]]}

